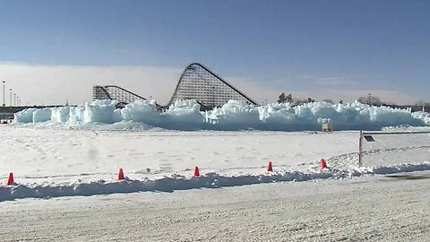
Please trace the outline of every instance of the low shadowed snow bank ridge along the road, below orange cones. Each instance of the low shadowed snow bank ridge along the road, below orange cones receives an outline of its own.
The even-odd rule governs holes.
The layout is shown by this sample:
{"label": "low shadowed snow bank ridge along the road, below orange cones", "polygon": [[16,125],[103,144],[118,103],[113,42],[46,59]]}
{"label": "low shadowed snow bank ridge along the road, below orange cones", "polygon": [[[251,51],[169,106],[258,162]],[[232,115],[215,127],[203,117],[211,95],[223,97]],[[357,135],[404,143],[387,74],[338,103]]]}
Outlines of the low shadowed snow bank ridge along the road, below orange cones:
{"label": "low shadowed snow bank ridge along the road, below orange cones", "polygon": [[173,192],[193,188],[219,188],[225,186],[245,186],[272,182],[306,181],[312,179],[359,177],[364,175],[388,175],[399,172],[430,170],[430,163],[401,164],[391,167],[375,167],[361,169],[327,169],[324,171],[281,171],[261,175],[223,176],[217,173],[207,173],[202,177],[185,177],[172,175],[159,179],[123,181],[105,180],[90,183],[74,183],[69,185],[50,186],[0,186],[0,202],[19,198],[49,198],[58,196],[95,195],[95,194],[125,194],[145,191]]}

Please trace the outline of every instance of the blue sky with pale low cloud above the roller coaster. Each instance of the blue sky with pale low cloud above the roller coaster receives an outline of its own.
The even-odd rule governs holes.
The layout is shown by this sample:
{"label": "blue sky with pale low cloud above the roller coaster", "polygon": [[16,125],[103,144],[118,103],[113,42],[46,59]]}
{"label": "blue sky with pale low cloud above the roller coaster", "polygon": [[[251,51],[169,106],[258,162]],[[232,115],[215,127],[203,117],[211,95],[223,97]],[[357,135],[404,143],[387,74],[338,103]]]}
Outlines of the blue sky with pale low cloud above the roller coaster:
{"label": "blue sky with pale low cloud above the roller coaster", "polygon": [[[62,82],[61,72],[52,74],[59,66],[159,68],[153,79],[172,86],[191,62],[260,101],[281,91],[430,100],[430,1],[0,1],[0,8],[0,79],[3,72],[29,100],[63,101],[32,93],[26,86],[36,81],[23,80]],[[39,66],[38,75],[26,75],[28,65]],[[152,89],[143,77],[151,79],[136,73],[125,82]],[[67,99],[90,99],[90,91],[75,91]]]}

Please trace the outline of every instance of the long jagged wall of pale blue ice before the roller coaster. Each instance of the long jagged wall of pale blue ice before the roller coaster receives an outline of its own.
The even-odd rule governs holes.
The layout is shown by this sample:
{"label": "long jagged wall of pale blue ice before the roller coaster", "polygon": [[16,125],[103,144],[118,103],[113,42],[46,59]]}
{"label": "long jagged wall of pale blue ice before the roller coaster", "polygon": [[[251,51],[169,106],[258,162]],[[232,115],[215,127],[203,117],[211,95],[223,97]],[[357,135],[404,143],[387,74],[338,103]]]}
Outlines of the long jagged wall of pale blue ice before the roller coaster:
{"label": "long jagged wall of pale blue ice before the roller coaster", "polygon": [[[157,110],[155,100],[139,100],[116,108],[114,100],[96,100],[78,107],[28,108],[15,115],[16,123],[114,124],[133,122],[177,130],[320,130],[330,122],[335,130],[379,130],[385,126],[430,125],[430,114],[410,109],[376,107],[352,102],[312,102],[292,107],[272,103],[255,107],[241,100],[229,100],[220,108],[200,111],[196,100],[176,100],[168,109]],[[49,118],[50,117],[50,118]]]}

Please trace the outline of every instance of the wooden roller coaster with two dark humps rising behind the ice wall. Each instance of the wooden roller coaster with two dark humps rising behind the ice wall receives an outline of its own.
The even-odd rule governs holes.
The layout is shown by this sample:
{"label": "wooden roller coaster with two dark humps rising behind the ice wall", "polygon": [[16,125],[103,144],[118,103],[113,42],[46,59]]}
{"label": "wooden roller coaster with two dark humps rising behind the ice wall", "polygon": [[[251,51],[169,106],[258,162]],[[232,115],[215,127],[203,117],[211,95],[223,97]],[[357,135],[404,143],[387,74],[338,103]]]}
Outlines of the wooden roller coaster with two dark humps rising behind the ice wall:
{"label": "wooden roller coaster with two dark humps rising behind the ice wall", "polygon": [[[132,91],[127,91],[115,85],[94,86],[92,91],[94,100],[115,99],[120,107],[124,107],[135,100],[145,99]],[[186,66],[179,77],[176,89],[168,105],[164,107],[158,105],[158,108],[166,108],[179,99],[195,99],[203,110],[221,107],[228,102],[228,99],[245,100],[249,104],[257,105],[245,93],[239,91],[219,75],[212,73],[211,70],[199,63]]]}

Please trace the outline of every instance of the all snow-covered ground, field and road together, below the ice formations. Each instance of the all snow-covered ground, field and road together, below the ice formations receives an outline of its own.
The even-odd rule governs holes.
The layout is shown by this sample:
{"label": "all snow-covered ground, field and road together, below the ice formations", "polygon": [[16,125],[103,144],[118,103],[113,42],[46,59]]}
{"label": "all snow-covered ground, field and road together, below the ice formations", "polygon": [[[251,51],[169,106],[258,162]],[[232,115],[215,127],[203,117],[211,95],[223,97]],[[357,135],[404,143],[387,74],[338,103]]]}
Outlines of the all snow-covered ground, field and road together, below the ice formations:
{"label": "all snow-covered ground, field and road together, below the ice formations", "polygon": [[[357,131],[19,124],[1,125],[0,136],[2,241],[430,236],[430,134],[376,134],[363,145],[362,166]],[[321,168],[321,159],[329,169]],[[201,177],[193,177],[195,166]],[[116,179],[120,168],[128,177],[123,181]],[[9,172],[15,184],[4,186]]]}

